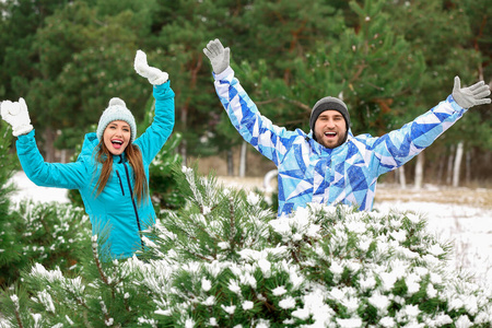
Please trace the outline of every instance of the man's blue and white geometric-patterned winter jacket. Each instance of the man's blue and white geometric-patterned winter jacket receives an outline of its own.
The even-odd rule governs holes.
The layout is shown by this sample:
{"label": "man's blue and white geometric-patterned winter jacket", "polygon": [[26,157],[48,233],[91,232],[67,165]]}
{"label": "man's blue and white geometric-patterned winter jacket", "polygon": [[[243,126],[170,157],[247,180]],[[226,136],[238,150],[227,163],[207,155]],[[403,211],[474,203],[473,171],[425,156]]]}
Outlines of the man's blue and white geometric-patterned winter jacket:
{"label": "man's blue and white geometric-patterned winter jacket", "polygon": [[348,131],[348,140],[327,149],[296,129],[288,131],[261,116],[229,67],[214,74],[215,91],[244,140],[278,167],[279,215],[308,202],[373,208],[377,177],[429,147],[466,112],[448,96],[415,120],[383,137]]}

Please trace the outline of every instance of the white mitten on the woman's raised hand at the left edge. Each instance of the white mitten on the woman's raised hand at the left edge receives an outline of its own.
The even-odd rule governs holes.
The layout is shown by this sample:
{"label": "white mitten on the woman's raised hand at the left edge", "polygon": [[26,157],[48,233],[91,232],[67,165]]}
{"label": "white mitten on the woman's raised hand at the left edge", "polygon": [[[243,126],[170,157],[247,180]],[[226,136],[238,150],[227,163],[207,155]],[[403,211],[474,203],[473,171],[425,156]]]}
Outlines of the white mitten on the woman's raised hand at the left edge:
{"label": "white mitten on the woman's raised hand at the left edge", "polygon": [[33,130],[24,98],[19,98],[19,102],[2,102],[1,114],[3,120],[12,126],[14,137],[26,134]]}

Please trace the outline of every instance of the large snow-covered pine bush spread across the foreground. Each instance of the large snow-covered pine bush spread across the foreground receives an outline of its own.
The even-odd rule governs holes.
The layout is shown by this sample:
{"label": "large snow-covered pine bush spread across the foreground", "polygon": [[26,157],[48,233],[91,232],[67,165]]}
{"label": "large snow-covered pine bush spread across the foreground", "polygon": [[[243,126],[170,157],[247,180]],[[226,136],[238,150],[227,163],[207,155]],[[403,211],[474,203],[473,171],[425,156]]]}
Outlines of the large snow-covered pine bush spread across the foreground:
{"label": "large snow-covered pine bush spread across the foreground", "polygon": [[[277,218],[254,192],[175,168],[187,203],[147,249],[80,276],[34,266],[3,293],[13,327],[490,327],[492,290],[452,271],[414,213],[309,203]],[[104,250],[104,249],[103,249]],[[31,298],[27,297],[31,295]]]}

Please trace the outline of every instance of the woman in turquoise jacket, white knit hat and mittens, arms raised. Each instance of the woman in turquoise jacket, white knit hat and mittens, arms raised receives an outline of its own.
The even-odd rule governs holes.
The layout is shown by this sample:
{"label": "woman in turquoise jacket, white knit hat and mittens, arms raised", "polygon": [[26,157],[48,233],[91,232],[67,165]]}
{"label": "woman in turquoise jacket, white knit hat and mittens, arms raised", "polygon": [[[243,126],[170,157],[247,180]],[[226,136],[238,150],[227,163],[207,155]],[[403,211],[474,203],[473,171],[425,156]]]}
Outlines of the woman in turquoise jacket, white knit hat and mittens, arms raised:
{"label": "woman in turquoise jacket, white knit hat and mittens, arms raised", "polygon": [[136,139],[133,115],[124,101],[112,98],[97,131],[85,134],[82,151],[73,163],[44,161],[23,98],[1,104],[2,118],[17,137],[17,156],[27,177],[38,186],[79,189],[92,233],[104,235],[104,249],[113,259],[131,257],[141,249],[141,232],[155,222],[149,195],[149,165],[174,127],[174,92],[167,73],[149,67],[141,50],[137,51],[134,69],[154,85],[152,125]]}

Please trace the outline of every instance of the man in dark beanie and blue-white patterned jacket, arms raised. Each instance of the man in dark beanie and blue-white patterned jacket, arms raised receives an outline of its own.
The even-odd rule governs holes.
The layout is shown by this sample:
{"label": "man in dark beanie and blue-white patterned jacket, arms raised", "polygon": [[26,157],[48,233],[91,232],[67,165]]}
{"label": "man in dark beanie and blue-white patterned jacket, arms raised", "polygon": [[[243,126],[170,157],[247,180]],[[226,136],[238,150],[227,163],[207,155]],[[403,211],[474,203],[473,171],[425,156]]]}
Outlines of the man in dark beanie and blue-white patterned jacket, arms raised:
{"label": "man in dark beanie and blue-white patterned jacket, arms raised", "polygon": [[383,137],[350,130],[347,105],[324,97],[313,107],[311,132],[288,131],[260,115],[230,67],[230,49],[219,39],[203,49],[210,59],[214,85],[231,122],[243,138],[278,167],[279,215],[307,202],[373,208],[377,178],[396,169],[429,147],[470,107],[490,104],[488,85],[480,81],[460,87],[401,129]]}

